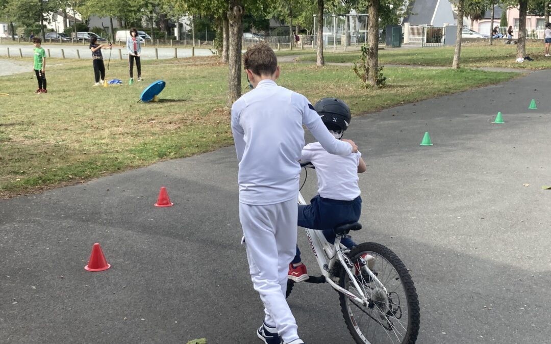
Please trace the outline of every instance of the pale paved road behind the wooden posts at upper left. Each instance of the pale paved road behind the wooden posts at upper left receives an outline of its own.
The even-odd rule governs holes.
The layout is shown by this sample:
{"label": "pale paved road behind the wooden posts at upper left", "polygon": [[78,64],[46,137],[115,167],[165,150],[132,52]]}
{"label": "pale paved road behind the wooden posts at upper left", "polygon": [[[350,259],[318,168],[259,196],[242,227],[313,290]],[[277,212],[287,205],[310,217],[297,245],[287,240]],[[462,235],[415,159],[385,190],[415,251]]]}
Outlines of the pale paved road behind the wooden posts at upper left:
{"label": "pale paved road behind the wooden posts at upper left", "polygon": [[[77,58],[77,50],[80,53],[80,58],[91,58],[90,51],[88,49],[88,45],[82,45],[82,44],[75,44],[75,45],[48,45],[47,43],[43,44],[42,47],[46,49],[46,51],[50,50],[50,56],[51,57],[62,57],[61,50],[63,49],[65,53],[66,58]],[[23,53],[23,57],[32,57],[33,56],[33,49],[34,46],[29,45],[7,45],[3,44],[0,45],[0,56],[7,56],[8,55],[8,48],[9,48],[9,54],[12,57],[19,57],[19,49],[21,49],[21,53]],[[178,57],[191,57],[191,48],[178,48]],[[109,57],[109,50],[103,51],[104,57]],[[122,58],[126,59],[128,58],[128,53],[126,52],[125,48],[121,49]],[[174,57],[174,48],[158,48],[158,54],[159,59],[166,59],[166,58],[173,58]],[[195,49],[195,56],[210,56],[212,55],[212,52],[208,49]],[[155,58],[155,48],[149,48],[145,47],[142,48],[142,54],[143,59],[154,59]],[[115,47],[113,49],[112,57],[111,59],[117,59],[119,58],[118,55],[118,48]]]}

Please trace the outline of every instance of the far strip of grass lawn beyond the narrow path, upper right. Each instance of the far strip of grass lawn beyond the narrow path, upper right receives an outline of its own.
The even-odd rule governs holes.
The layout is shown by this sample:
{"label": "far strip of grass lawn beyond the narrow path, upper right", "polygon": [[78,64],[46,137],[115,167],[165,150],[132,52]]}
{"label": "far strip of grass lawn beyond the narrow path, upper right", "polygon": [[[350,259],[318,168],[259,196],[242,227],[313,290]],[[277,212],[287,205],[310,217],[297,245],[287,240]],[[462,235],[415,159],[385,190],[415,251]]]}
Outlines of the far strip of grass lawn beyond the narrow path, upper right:
{"label": "far strip of grass lawn beyond the narrow path, upper right", "polygon": [[[551,57],[544,57],[543,43],[528,43],[526,54],[534,61],[517,63],[516,45],[504,45],[501,40],[493,46],[476,45],[461,46],[461,67],[505,67],[522,69],[547,69],[551,68]],[[453,62],[455,47],[437,48],[399,48],[379,51],[379,59],[382,65],[430,65],[450,66]],[[325,53],[325,62],[357,62],[360,53]],[[300,57],[300,61],[316,61],[314,54]]]}

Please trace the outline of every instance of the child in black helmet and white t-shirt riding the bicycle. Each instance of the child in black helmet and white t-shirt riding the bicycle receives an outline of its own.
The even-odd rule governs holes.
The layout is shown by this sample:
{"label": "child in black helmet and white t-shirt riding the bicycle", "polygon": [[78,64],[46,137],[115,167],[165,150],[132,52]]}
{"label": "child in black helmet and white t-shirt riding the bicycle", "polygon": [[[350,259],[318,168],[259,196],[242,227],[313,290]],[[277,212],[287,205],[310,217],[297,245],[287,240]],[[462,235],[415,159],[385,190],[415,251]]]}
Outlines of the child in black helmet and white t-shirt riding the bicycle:
{"label": "child in black helmet and white t-shirt riding the bicycle", "polygon": [[[336,139],[341,139],[352,118],[348,105],[340,99],[323,98],[314,108],[329,132]],[[309,205],[299,205],[298,225],[322,230],[327,241],[333,244],[333,228],[360,219],[358,173],[366,171],[365,162],[359,151],[348,155],[332,155],[318,142],[307,144],[302,149],[300,160],[309,161],[316,167],[318,195],[310,200]],[[348,248],[356,245],[349,237],[343,238],[341,243]],[[300,259],[298,246],[295,258],[289,264],[288,278],[295,282],[309,278],[306,265]]]}

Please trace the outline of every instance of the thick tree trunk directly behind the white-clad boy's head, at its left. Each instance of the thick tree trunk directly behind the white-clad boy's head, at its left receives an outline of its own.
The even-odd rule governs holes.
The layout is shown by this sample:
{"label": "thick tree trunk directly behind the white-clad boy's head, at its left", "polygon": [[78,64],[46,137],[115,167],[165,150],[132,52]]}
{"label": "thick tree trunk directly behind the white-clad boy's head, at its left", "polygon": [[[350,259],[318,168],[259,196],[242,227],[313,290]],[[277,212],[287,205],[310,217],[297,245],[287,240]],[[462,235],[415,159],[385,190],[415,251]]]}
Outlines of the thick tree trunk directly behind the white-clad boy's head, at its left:
{"label": "thick tree trunk directly behind the white-clad boy's head, at its left", "polygon": [[241,96],[241,41],[243,37],[243,7],[239,0],[230,1],[228,106]]}

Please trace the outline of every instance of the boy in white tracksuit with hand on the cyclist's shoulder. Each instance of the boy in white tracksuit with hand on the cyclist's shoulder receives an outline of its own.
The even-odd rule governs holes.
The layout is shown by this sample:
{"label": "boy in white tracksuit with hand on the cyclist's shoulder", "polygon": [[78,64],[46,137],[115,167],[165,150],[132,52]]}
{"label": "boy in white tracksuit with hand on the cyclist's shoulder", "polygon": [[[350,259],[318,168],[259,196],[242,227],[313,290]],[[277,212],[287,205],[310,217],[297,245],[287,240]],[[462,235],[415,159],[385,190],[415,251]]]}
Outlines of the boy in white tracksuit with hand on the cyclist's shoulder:
{"label": "boy in white tracksuit with hand on the cyclist's shoulder", "polygon": [[249,272],[266,313],[257,336],[267,344],[300,344],[285,290],[296,252],[302,125],[332,154],[348,155],[358,148],[353,141],[334,138],[304,96],[275,83],[277,58],[266,43],[249,47],[243,61],[254,89],[231,107],[231,129]]}

